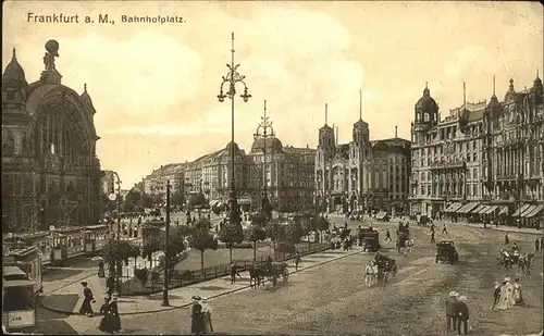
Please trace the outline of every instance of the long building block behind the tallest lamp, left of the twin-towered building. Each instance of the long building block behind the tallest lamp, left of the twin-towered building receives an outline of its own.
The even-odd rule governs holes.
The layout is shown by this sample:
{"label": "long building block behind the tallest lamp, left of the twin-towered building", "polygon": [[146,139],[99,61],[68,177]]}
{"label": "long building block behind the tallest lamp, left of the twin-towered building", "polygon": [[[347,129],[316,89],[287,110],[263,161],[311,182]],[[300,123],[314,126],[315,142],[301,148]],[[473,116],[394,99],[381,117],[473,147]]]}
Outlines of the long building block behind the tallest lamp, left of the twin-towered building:
{"label": "long building block behind the tallest lamp, left of the twin-towered building", "polygon": [[[195,161],[176,165],[180,171],[174,171],[183,176],[184,192],[203,192],[211,203],[227,202],[232,179],[231,144]],[[260,206],[264,183],[272,204],[280,211],[294,211],[312,204],[316,150],[308,146],[283,146],[275,137],[257,137],[249,153],[236,142],[234,151],[236,195],[238,203],[246,209]],[[144,178],[147,194],[160,190],[158,186],[164,177],[159,178],[158,171]]]}

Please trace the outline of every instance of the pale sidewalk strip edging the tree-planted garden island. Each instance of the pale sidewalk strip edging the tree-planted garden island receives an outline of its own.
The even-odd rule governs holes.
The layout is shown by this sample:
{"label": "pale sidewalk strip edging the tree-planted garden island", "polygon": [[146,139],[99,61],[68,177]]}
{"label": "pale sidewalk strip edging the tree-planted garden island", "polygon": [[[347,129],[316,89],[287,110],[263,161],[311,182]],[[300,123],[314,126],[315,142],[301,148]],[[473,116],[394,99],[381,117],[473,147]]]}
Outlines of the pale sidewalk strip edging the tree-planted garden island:
{"label": "pale sidewalk strip edging the tree-planted garden island", "polygon": [[[302,257],[298,265],[298,271],[295,271],[294,261],[288,261],[287,265],[289,274],[294,274],[361,252],[362,250],[360,247],[355,247],[349,251],[326,250],[324,252]],[[139,297],[121,297],[119,299],[119,310],[122,315],[133,315],[185,308],[190,306],[191,297],[195,295],[211,299],[250,288],[249,273],[247,271],[243,272],[240,273],[240,276],[242,278],[237,277],[236,284],[234,285],[231,285],[231,277],[225,276],[186,287],[171,289],[169,290],[170,307],[161,306],[162,293]],[[97,310],[102,303],[104,297],[104,286],[101,284],[101,279],[99,279],[96,275],[89,277],[87,282],[89,283],[89,287],[94,291],[96,298],[96,303],[92,304],[92,308]],[[40,299],[40,303],[45,309],[50,311],[65,314],[77,314],[83,302],[81,293],[82,286],[79,283],[76,283],[73,286],[69,286],[63,290],[57,291],[54,295],[47,295],[42,297]]]}

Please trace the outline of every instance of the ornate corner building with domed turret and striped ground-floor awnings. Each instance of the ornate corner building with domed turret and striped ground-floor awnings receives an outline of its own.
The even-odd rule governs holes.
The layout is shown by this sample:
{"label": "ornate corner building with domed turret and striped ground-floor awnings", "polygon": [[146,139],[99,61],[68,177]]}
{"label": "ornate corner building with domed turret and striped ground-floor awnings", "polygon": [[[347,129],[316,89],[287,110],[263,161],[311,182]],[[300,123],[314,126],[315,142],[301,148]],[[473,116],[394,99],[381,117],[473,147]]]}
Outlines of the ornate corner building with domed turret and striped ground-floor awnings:
{"label": "ornate corner building with domed turret and striped ground-floor awnings", "polygon": [[[429,88],[412,123],[411,213],[475,215],[520,225],[542,223],[543,88],[499,102],[463,102],[441,119]],[[482,217],[483,215],[483,217]]]}

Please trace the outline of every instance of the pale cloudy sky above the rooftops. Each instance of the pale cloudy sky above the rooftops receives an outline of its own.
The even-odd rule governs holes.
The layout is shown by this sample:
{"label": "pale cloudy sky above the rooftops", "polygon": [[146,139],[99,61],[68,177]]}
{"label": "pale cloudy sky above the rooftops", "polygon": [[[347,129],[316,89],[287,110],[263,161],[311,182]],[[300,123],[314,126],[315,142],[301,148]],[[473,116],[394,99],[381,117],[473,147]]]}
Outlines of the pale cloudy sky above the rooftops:
{"label": "pale cloudy sky above the rooftops", "polygon": [[[97,114],[102,169],[128,188],[152,169],[193,160],[230,141],[221,77],[236,35],[236,63],[252,99],[236,100],[236,141],[249,149],[263,100],[284,145],[316,147],[318,129],[350,140],[362,114],[371,138],[409,138],[413,104],[429,82],[442,114],[467,99],[504,97],[508,79],[531,87],[543,69],[543,7],[536,2],[4,2],[2,69],[12,48],[29,83],[44,45],[60,43],[63,84]],[[28,23],[79,15],[79,24]],[[98,24],[108,14],[114,24]],[[85,24],[91,16],[96,23]],[[184,24],[122,23],[122,15],[182,16]],[[242,91],[242,88],[238,90]]]}

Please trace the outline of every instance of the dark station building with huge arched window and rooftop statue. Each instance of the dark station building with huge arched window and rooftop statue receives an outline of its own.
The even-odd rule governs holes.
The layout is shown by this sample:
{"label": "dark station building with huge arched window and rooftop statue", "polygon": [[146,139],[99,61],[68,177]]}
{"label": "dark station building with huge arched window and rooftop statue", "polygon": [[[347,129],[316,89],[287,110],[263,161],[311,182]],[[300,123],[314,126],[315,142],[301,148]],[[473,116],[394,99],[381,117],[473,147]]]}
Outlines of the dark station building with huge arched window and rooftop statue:
{"label": "dark station building with huge arched window and rooftop statue", "polygon": [[2,75],[2,225],[13,232],[92,225],[100,219],[100,162],[92,105],[61,84],[59,43],[28,84],[15,49]]}

